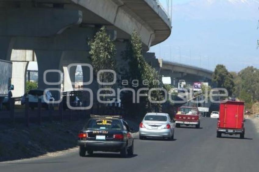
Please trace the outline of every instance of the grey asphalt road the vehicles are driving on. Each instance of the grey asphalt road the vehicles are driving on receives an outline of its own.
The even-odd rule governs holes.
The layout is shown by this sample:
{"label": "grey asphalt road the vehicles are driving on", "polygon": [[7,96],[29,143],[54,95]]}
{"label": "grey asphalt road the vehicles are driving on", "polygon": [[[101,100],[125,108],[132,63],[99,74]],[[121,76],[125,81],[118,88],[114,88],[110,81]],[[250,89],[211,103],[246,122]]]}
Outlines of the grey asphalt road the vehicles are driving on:
{"label": "grey asphalt road the vehicles are driving on", "polygon": [[77,171],[176,171],[176,172],[257,172],[259,171],[259,133],[250,120],[245,123],[245,139],[216,138],[217,119],[204,118],[201,129],[176,128],[175,140],[134,141],[134,156],[120,158],[117,153],[95,153],[79,157],[78,152],[60,157],[0,163],[1,172],[77,172]]}

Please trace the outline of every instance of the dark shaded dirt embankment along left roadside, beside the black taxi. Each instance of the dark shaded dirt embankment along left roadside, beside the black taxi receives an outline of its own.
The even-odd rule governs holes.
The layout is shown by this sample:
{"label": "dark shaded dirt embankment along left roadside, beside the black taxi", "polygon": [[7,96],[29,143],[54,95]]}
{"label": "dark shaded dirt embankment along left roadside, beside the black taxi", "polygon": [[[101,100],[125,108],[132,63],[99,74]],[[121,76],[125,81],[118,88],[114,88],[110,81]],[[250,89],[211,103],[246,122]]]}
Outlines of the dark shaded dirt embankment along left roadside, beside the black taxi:
{"label": "dark shaded dirt embankment along left roadside, beside the black taxi", "polygon": [[[46,154],[55,156],[57,151],[73,150],[77,146],[77,134],[86,121],[44,122],[41,126],[31,124],[30,127],[0,124],[0,161]],[[138,122],[126,121],[134,130],[138,129]]]}

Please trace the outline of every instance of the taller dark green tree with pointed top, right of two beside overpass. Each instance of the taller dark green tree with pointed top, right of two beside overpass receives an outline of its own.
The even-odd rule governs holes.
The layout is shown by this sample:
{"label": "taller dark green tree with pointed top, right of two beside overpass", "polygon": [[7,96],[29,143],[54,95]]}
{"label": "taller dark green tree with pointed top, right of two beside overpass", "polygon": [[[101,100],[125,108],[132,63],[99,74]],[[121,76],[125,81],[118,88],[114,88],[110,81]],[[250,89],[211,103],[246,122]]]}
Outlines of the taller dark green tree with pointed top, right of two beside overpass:
{"label": "taller dark green tree with pointed top, right of two beside overpass", "polygon": [[[151,67],[143,57],[141,38],[136,31],[132,33],[126,51],[122,53],[122,55],[129,64],[128,70],[123,69],[122,78],[128,81],[137,80],[139,85],[132,87],[136,92],[140,88],[162,88],[161,76],[159,76],[158,71]],[[143,84],[143,81],[147,84]],[[147,94],[147,92],[148,91],[142,91],[141,93]],[[123,99],[128,100],[125,104],[128,105],[128,110],[134,114],[136,114],[136,112],[133,111],[138,111],[140,114],[144,114],[145,111],[161,111],[161,104],[150,103],[146,97],[141,97],[139,104],[132,104],[132,97],[130,97],[131,93],[126,94]],[[163,100],[163,97],[164,95],[161,91],[152,91],[151,93],[151,99],[154,101]],[[134,106],[135,108],[132,108]]]}

